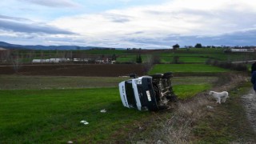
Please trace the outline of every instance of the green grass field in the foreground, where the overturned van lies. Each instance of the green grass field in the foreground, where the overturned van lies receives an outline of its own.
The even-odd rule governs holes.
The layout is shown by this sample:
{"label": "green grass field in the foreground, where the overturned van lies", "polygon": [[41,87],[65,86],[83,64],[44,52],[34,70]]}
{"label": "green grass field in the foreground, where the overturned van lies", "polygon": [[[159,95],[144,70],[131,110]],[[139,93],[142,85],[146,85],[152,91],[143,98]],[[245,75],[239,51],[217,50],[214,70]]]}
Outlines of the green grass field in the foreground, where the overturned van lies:
{"label": "green grass field in the foreground, where the overturned van lies", "polygon": [[[22,85],[31,78],[12,76],[8,79],[13,80],[5,82]],[[0,143],[117,142],[137,129],[140,122],[155,116],[122,106],[117,86],[74,89],[77,84],[72,83],[72,78],[63,78],[63,81],[70,83],[68,90],[0,90]],[[3,79],[0,77],[1,81]],[[38,79],[42,81],[43,78]],[[49,82],[54,86],[61,79],[45,77],[44,84]],[[198,81],[195,82],[195,79]],[[118,80],[121,79],[114,78],[113,82]],[[174,92],[179,98],[190,98],[209,88],[214,80],[208,77],[174,78]],[[106,85],[110,79],[97,81]],[[31,88],[40,89],[40,86]],[[100,113],[102,109],[107,112]],[[89,122],[89,125],[80,123],[82,120]]]}

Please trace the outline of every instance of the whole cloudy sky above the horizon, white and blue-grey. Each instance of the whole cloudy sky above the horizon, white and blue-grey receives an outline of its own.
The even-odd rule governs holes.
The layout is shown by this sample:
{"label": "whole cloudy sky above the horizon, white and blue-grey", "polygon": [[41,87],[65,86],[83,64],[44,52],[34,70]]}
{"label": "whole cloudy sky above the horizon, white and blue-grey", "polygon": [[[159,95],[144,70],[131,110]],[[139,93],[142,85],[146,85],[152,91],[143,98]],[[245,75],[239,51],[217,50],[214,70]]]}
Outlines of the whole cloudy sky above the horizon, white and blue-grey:
{"label": "whole cloudy sky above the horizon, white and blue-grey", "polygon": [[253,0],[1,0],[0,41],[116,48],[256,46]]}

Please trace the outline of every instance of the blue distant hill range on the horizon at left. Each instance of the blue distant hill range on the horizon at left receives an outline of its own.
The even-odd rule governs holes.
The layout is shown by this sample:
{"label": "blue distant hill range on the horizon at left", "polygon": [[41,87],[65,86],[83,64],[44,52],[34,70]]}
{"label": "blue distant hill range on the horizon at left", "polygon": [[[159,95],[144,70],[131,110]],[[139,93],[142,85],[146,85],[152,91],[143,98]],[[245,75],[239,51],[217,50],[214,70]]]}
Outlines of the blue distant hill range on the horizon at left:
{"label": "blue distant hill range on the horizon at left", "polygon": [[42,45],[15,45],[7,42],[0,42],[0,47],[5,49],[19,49],[19,50],[90,50],[90,49],[105,49],[108,47],[94,47],[94,46],[42,46]]}

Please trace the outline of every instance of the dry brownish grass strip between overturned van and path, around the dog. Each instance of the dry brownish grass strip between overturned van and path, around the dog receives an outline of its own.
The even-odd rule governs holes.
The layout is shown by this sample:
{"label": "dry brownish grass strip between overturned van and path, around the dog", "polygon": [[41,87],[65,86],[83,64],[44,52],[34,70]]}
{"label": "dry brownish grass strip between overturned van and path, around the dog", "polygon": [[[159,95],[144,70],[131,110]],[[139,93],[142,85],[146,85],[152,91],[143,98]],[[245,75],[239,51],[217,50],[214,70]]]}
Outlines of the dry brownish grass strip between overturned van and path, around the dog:
{"label": "dry brownish grass strip between overturned van and path, around the dog", "polygon": [[[223,77],[225,78],[219,78],[218,85],[212,90],[232,90],[246,80],[243,76],[233,74]],[[211,131],[210,124],[203,120],[214,118],[215,109],[218,107],[219,105],[209,97],[207,92],[197,94],[194,98],[176,103],[173,109],[153,114],[150,122],[145,122],[144,127],[142,126],[142,130],[130,134],[130,142],[202,142],[200,139],[207,134],[207,130],[210,131],[211,136],[216,135]],[[204,127],[201,129],[200,126]],[[221,142],[230,142],[230,137]]]}

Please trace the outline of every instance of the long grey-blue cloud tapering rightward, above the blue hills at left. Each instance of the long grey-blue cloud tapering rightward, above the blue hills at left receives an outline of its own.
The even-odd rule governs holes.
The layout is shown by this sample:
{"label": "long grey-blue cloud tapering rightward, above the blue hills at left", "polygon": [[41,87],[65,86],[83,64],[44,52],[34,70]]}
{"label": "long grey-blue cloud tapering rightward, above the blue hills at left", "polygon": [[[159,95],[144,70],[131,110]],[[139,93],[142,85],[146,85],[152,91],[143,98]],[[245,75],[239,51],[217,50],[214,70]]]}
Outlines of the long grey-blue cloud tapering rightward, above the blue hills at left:
{"label": "long grey-blue cloud tapering rightward, above the blue hills at left", "polygon": [[0,29],[22,33],[74,34],[68,30],[62,30],[54,26],[39,25],[38,23],[12,22],[3,19],[0,19]]}

